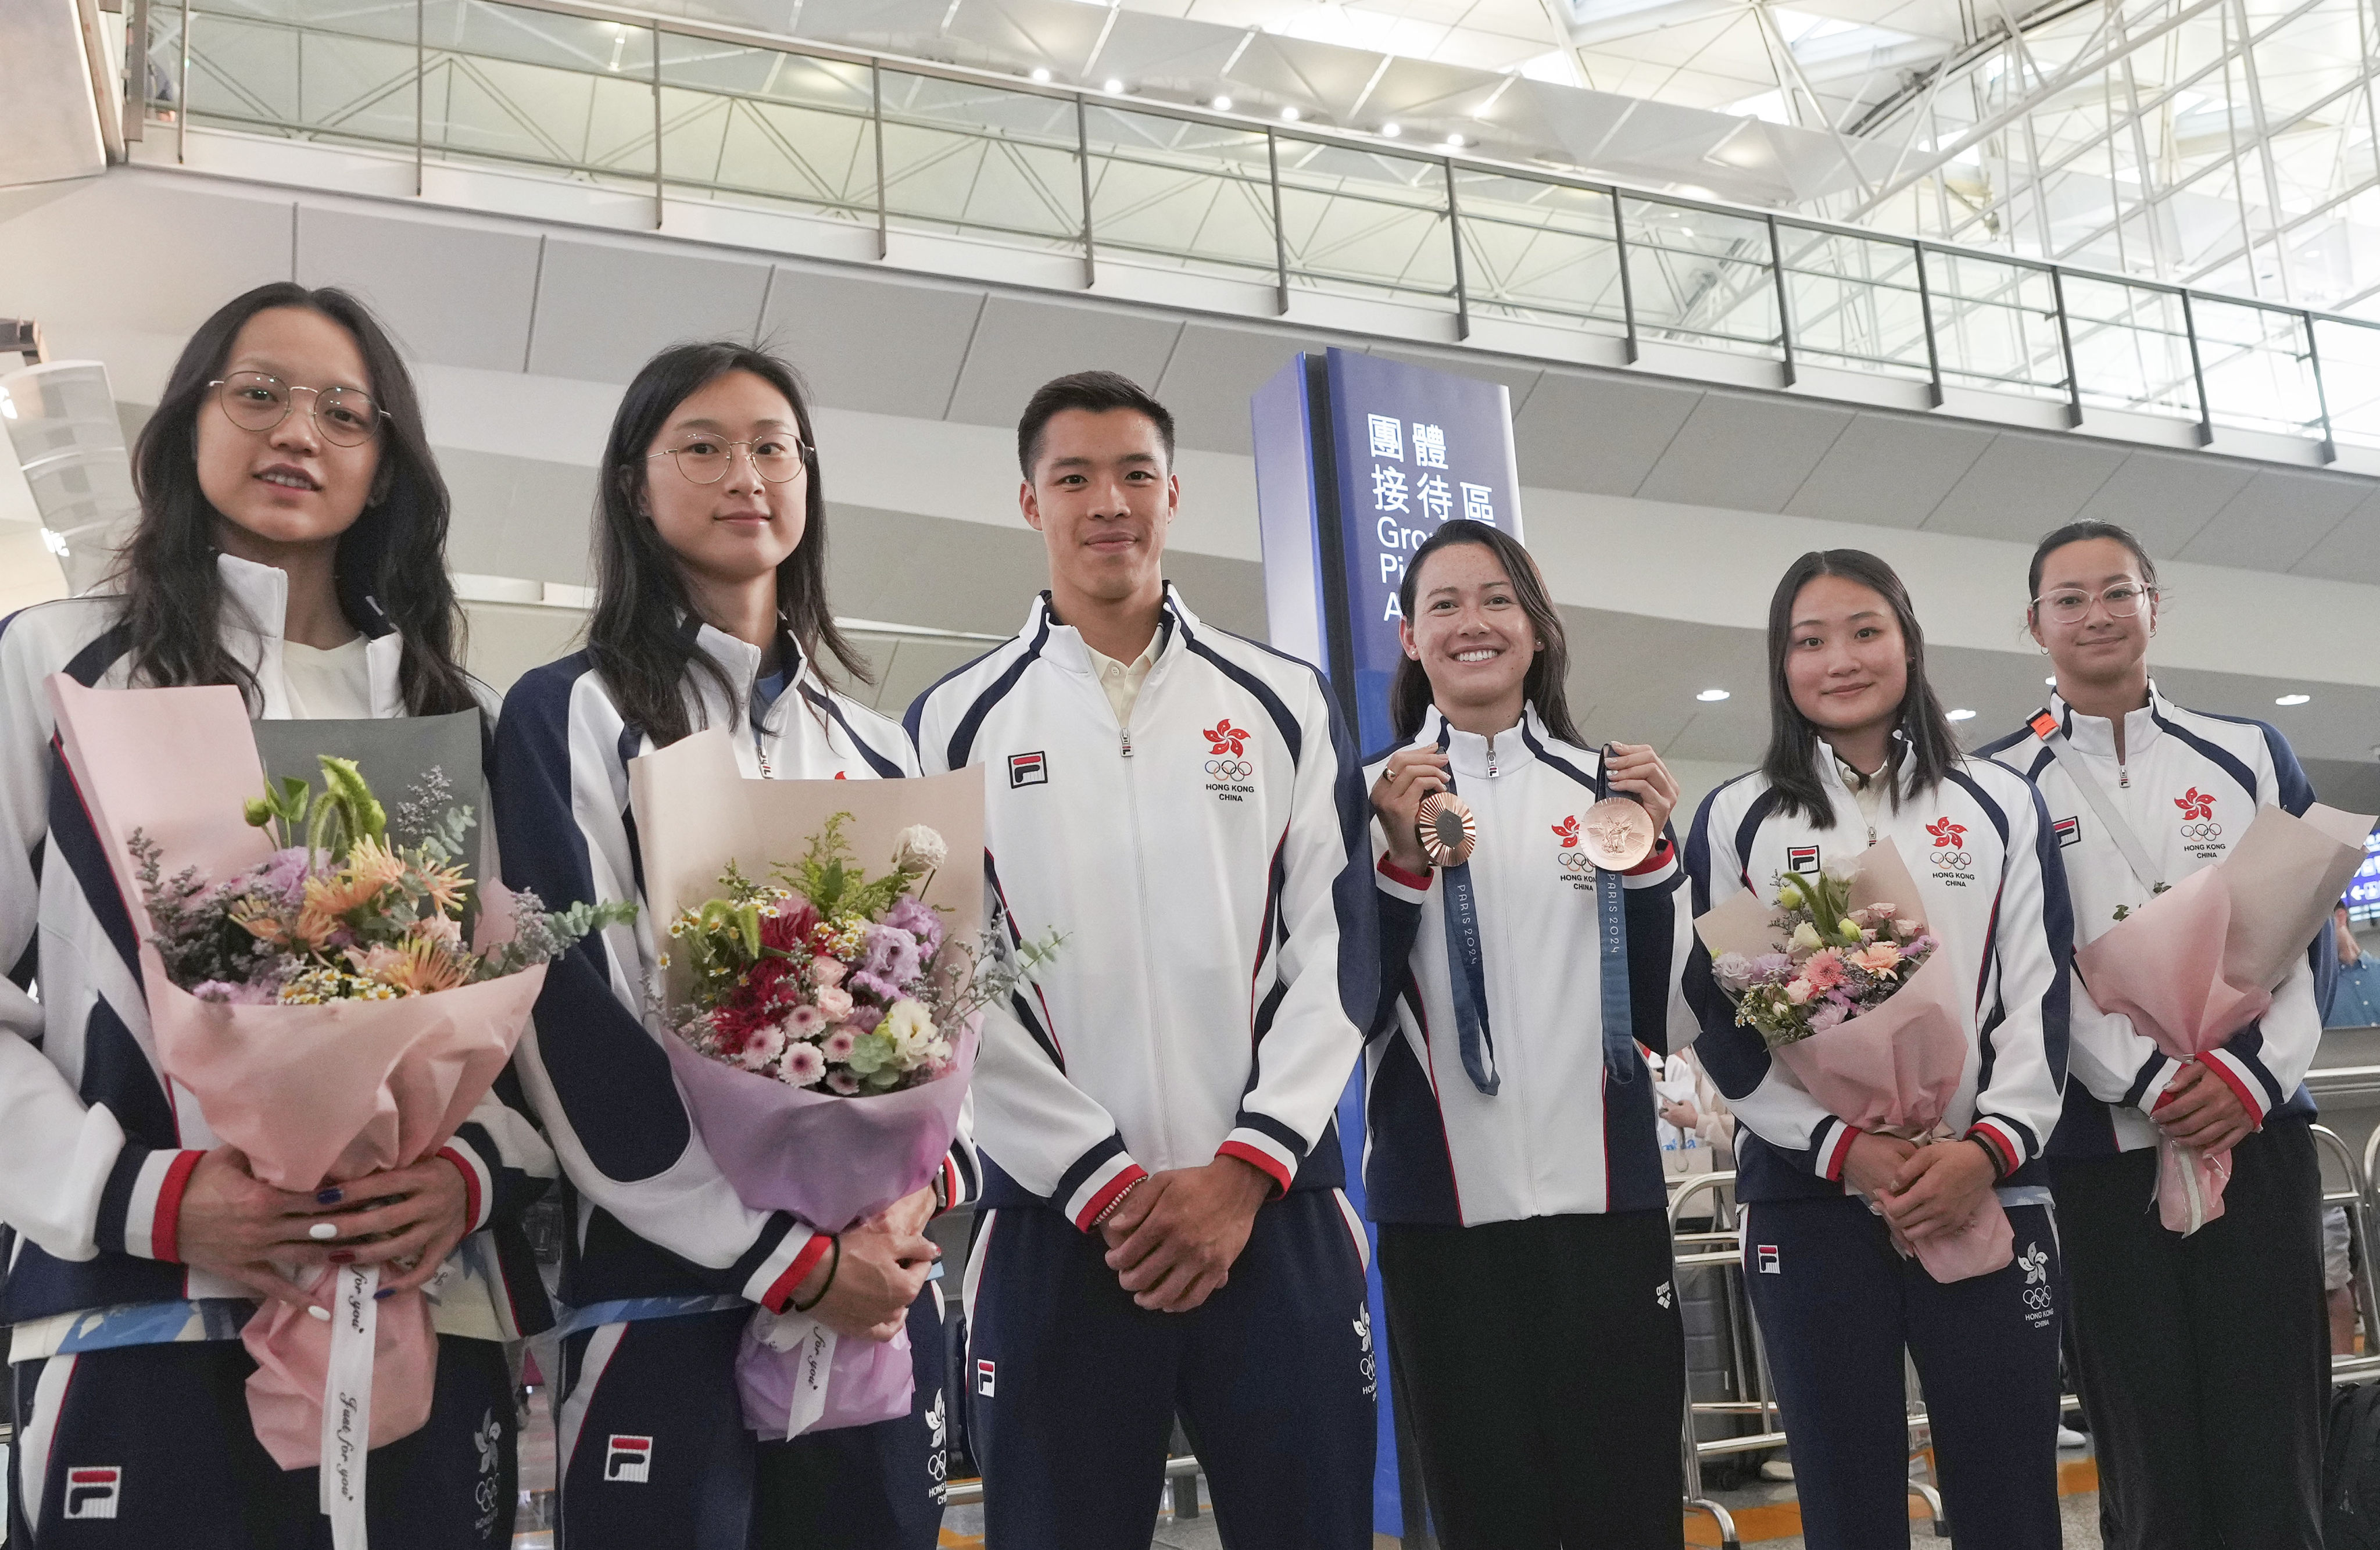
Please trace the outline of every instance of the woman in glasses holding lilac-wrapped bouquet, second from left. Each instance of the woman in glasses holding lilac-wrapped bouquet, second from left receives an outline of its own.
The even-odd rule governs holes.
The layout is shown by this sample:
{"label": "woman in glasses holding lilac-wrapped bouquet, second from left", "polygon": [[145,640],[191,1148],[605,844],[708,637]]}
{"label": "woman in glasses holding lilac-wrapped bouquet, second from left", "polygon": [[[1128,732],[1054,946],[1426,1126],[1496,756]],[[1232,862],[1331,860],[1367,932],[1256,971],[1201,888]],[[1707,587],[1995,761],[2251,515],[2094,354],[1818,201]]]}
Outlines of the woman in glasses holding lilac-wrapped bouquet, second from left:
{"label": "woman in glasses holding lilac-wrapped bouquet, second from left", "polygon": [[[704,726],[745,776],[916,774],[900,724],[835,693],[864,679],[826,605],[826,498],[785,362],[733,343],[652,357],[621,398],[597,495],[585,650],[505,698],[505,874],[547,907],[638,898],[628,760]],[[902,1548],[938,1540],[942,1331],[926,1221],[969,1198],[966,1143],[933,1186],[840,1238],[750,1210],[693,1131],[645,1024],[650,919],[555,962],[519,1069],[576,1195],[562,1298],[562,1510],[576,1550]],[[909,1321],[916,1412],[757,1443],[735,1395],[754,1307],[845,1338]],[[635,1448],[616,1448],[621,1438]],[[628,1460],[628,1467],[621,1460]]]}

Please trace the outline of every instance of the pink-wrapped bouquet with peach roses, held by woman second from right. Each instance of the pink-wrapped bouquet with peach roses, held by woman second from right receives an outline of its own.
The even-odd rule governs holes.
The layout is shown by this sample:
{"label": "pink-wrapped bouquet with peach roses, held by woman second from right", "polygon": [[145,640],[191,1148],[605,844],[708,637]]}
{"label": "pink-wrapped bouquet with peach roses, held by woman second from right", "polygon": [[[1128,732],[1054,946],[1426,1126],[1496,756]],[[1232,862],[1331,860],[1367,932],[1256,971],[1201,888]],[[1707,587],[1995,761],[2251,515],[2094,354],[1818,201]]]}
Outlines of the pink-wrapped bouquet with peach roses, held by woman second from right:
{"label": "pink-wrapped bouquet with peach roses, held by woman second from right", "polygon": [[[1892,840],[1835,874],[1780,874],[1695,921],[1735,1021],[1759,1029],[1785,1074],[1849,1126],[1918,1145],[1949,1140],[1942,1117],[1966,1076],[1959,976],[1906,902],[1916,879]],[[1871,1202],[1873,1207],[1873,1202]],[[1987,1276],[2013,1257],[2009,1214],[1985,1195],[1954,1233],[1904,1243],[1935,1281]]]}

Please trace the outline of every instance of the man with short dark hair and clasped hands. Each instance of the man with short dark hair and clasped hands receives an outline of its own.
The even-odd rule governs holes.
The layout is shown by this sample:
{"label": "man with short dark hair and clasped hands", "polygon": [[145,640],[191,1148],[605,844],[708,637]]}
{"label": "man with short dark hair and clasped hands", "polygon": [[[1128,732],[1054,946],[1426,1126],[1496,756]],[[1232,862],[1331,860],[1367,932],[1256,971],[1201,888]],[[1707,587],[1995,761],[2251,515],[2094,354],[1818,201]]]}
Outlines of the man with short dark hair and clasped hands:
{"label": "man with short dark hair and clasped hands", "polygon": [[926,690],[990,883],[1057,962],[985,1019],[969,1402],[995,1548],[1140,1550],[1190,1431],[1235,1545],[1371,1545],[1364,1236],[1333,1112],[1378,998],[1359,764],[1321,676],[1164,583],[1173,419],[1042,386],[1023,631]]}

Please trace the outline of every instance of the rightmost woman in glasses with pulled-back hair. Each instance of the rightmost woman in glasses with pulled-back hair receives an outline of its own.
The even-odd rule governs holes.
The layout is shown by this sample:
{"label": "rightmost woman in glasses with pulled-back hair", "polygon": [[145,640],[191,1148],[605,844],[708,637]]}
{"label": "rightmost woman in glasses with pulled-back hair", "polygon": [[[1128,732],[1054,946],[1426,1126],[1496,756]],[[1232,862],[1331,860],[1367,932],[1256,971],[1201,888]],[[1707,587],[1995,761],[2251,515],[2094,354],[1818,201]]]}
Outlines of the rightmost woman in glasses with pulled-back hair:
{"label": "rightmost woman in glasses with pulled-back hair", "polygon": [[[2049,805],[2080,948],[2159,883],[2221,862],[2259,807],[2304,812],[2313,786],[2275,729],[2156,693],[2156,564],[2132,533],[2049,533],[2028,590],[2056,693],[2047,719],[1985,752]],[[2325,929],[2261,1019],[2182,1064],[2087,988],[2073,998],[2049,1155],[2111,1550],[2323,1543],[2330,1336],[2304,1074],[2335,964]],[[2154,1207],[2163,1138],[2232,1160],[2223,1217],[2187,1238]]]}

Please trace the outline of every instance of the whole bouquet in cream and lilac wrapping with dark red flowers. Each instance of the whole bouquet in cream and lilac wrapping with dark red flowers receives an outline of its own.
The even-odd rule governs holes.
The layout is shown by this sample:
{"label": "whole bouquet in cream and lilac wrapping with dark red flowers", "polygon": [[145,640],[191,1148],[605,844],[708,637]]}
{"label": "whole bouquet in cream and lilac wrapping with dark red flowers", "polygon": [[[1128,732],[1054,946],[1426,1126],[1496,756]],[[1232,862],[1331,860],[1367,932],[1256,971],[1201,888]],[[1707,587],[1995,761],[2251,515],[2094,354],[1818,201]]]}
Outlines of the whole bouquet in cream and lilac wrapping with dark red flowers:
{"label": "whole bouquet in cream and lilac wrapping with dark red flowers", "polygon": [[[1052,948],[985,931],[983,771],[747,781],[712,729],[631,762],[628,790],[666,921],[662,1048],[735,1193],[840,1233],[921,1190],[981,1007]],[[778,1438],[909,1414],[912,1371],[907,1331],[840,1340],[797,1312],[754,1312],[735,1357],[745,1424]]]}

